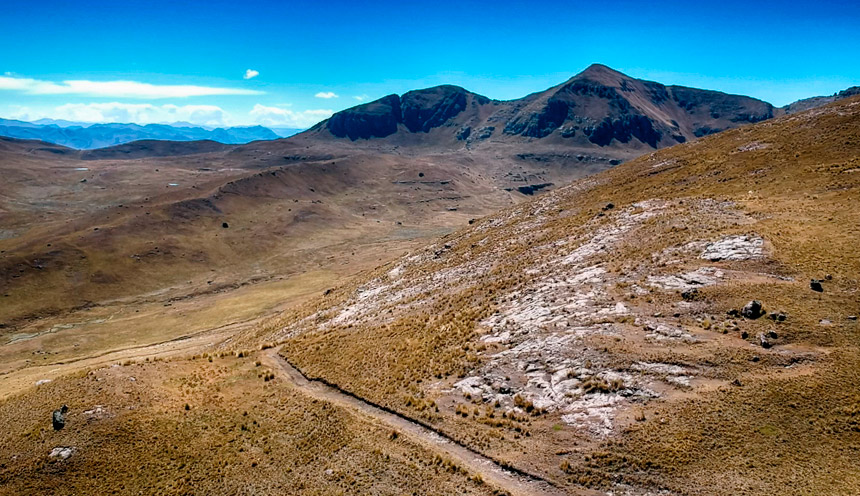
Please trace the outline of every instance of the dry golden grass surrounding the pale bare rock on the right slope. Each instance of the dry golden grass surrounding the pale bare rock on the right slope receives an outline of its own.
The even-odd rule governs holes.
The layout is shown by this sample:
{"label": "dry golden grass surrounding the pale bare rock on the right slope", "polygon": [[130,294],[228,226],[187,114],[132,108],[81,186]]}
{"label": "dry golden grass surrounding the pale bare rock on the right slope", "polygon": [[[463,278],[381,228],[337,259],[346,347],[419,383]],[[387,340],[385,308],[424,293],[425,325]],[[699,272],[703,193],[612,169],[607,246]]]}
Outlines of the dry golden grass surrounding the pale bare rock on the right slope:
{"label": "dry golden grass surrounding the pale bare rock on the right slope", "polygon": [[[605,488],[625,480],[681,494],[849,494],[848,488],[860,487],[860,466],[850,462],[860,447],[860,330],[848,319],[860,313],[858,197],[860,100],[855,98],[662,150],[574,183],[417,252],[424,258],[403,264],[402,279],[418,284],[427,274],[465,269],[451,272],[458,275],[432,290],[416,286],[409,298],[391,304],[381,298],[370,314],[329,323],[357,291],[375,287],[374,281],[384,288],[389,271],[399,266],[389,264],[247,339],[282,341],[284,354],[310,375],[558,481]],[[694,269],[704,262],[666,267],[651,257],[690,241],[734,234],[762,236],[769,256],[718,262],[730,280],[703,288],[695,310],[678,319],[705,336],[704,344],[658,349],[630,336],[593,344],[617,364],[651,359],[693,365],[713,384],[703,382],[690,393],[631,413],[632,427],[603,444],[551,429],[557,422],[552,415],[499,422],[501,412],[490,417],[483,405],[474,410],[428,396],[438,390],[430,385],[450,384],[485,362],[489,352],[478,350],[478,323],[500,302],[522,297],[517,291],[530,282],[527,269],[545,259],[546,250],[562,251],[554,242],[607,225],[613,214],[604,215],[603,207],[609,201],[618,211],[651,199],[667,202],[665,212],[598,257],[615,276]],[[538,210],[543,219],[532,225]],[[493,267],[470,272],[471,262],[498,246],[505,246],[504,254]],[[825,292],[810,291],[809,280],[825,275],[830,275]],[[615,297],[629,301],[638,315],[671,315],[673,302],[681,299],[653,290],[634,298],[625,284],[618,285]],[[773,323],[741,319],[738,329],[736,319],[726,316],[751,299],[790,316],[779,324],[776,351],[752,346]],[[832,325],[820,325],[822,319]],[[747,341],[741,331],[750,336]],[[805,373],[793,373],[795,368]],[[731,386],[735,380],[742,385]],[[595,387],[612,389],[611,384]],[[422,408],[427,400],[440,411]],[[571,451],[570,446],[578,447]]]}

